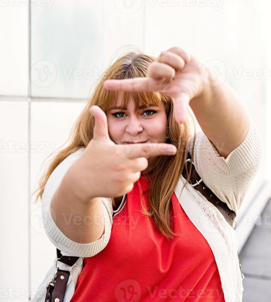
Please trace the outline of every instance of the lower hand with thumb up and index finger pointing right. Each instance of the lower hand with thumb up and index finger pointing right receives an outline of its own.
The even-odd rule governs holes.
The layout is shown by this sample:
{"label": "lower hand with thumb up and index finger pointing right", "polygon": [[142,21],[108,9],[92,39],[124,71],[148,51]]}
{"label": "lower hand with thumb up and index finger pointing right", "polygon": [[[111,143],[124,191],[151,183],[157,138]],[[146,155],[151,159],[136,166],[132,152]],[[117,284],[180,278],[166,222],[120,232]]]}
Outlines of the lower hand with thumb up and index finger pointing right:
{"label": "lower hand with thumb up and index finger pointing right", "polygon": [[67,172],[74,193],[82,201],[129,193],[140,171],[148,167],[147,158],[177,152],[174,145],[165,143],[115,144],[109,138],[105,112],[96,105],[91,111],[95,118],[93,138]]}

